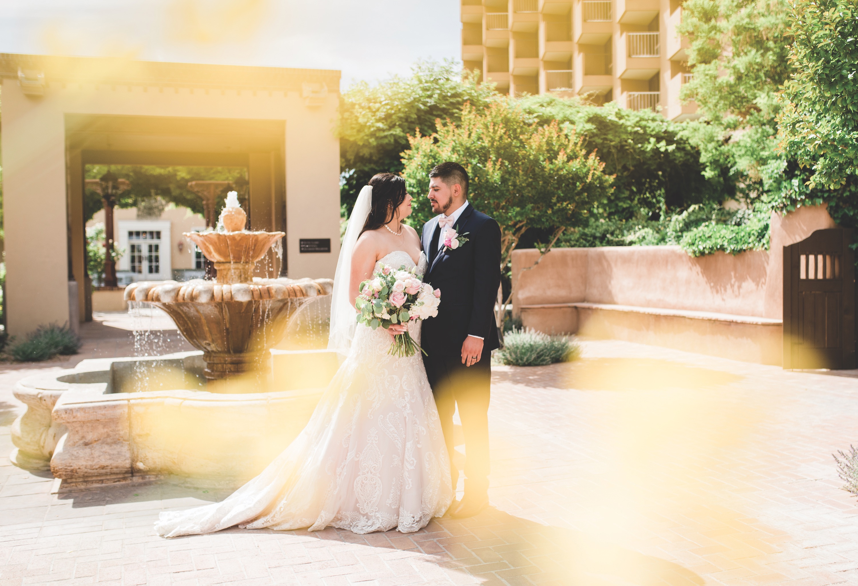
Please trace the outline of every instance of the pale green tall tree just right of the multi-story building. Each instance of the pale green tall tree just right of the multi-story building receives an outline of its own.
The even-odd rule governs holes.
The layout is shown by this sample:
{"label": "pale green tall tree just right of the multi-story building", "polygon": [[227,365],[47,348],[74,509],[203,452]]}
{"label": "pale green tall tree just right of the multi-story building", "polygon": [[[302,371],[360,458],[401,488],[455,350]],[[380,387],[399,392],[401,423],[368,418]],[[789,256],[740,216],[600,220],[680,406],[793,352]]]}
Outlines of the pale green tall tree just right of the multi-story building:
{"label": "pale green tall tree just right of the multi-story building", "polygon": [[792,71],[787,1],[688,0],[677,30],[691,41],[681,95],[704,115],[682,136],[723,196],[767,200],[792,168],[776,153],[777,94]]}

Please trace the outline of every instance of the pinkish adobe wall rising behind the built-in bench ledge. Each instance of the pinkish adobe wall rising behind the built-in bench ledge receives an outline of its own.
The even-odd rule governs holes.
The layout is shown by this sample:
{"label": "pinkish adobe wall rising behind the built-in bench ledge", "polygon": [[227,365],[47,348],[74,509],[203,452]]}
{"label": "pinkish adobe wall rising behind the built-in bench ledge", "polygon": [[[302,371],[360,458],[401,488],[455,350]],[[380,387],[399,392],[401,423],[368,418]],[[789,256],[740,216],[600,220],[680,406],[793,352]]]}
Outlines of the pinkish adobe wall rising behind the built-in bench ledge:
{"label": "pinkish adobe wall rising behind the built-in bench ledge", "polygon": [[555,248],[512,253],[514,312],[521,305],[589,302],[740,316],[782,316],[782,249],[834,227],[824,206],[772,216],[770,251],[690,257],[679,246]]}

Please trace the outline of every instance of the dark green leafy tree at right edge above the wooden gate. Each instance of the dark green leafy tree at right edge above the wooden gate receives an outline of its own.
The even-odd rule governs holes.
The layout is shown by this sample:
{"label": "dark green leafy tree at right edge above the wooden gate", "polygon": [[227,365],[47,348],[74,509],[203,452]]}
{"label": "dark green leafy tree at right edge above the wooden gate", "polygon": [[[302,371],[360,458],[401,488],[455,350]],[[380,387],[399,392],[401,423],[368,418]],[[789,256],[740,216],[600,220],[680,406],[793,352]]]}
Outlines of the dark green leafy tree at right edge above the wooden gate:
{"label": "dark green leafy tree at right edge above the wooden gate", "polygon": [[785,84],[780,139],[801,176],[782,202],[828,202],[858,226],[858,9],[850,0],[794,0],[794,73]]}

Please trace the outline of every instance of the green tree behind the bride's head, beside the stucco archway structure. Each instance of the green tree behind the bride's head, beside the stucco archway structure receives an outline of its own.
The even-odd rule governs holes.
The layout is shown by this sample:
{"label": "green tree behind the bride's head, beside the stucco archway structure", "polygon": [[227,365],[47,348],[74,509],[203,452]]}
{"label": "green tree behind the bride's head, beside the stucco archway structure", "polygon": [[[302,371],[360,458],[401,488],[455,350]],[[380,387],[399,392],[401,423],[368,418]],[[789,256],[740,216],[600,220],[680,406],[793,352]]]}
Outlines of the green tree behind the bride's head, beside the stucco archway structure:
{"label": "green tree behind the bride's head, beside the stucco archway structure", "polygon": [[462,105],[482,107],[498,98],[491,84],[453,62],[419,62],[410,77],[393,76],[371,86],[353,84],[341,95],[341,202],[351,212],[360,189],[378,172],[401,172],[408,136],[430,135],[436,120],[458,122]]}

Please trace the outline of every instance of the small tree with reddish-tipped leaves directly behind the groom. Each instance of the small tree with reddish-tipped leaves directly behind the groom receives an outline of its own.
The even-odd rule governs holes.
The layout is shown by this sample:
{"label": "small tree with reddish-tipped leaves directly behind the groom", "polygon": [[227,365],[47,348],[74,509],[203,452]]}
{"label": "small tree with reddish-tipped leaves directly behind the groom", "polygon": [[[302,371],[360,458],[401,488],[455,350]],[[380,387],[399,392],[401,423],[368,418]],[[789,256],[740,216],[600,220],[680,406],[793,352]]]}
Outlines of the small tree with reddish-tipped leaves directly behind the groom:
{"label": "small tree with reddish-tipped leaves directly behind the groom", "polygon": [[[613,178],[603,172],[605,164],[587,152],[574,130],[561,129],[556,120],[539,124],[506,100],[486,108],[466,104],[460,123],[438,121],[435,134],[417,135],[409,142],[411,148],[402,154],[402,175],[411,193],[426,193],[428,170],[444,160],[456,160],[467,169],[468,199],[500,225],[503,273],[529,228],[550,234],[544,254],[567,228],[585,224],[595,202],[611,190]],[[421,223],[432,217],[426,197],[415,202],[409,220]],[[500,291],[498,301],[498,307],[509,303]],[[503,330],[505,314],[498,313]]]}

